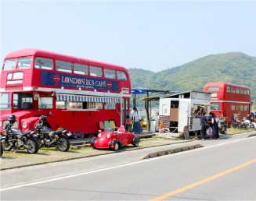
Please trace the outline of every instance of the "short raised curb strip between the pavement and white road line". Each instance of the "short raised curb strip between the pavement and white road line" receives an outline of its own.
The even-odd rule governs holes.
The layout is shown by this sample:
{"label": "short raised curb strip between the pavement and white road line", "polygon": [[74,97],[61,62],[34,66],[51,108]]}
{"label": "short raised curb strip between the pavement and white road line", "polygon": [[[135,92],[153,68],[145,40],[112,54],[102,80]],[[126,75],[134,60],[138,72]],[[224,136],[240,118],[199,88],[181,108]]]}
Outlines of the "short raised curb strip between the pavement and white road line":
{"label": "short raised curb strip between the pavement and white road line", "polygon": [[[256,134],[255,134],[255,136],[256,136]],[[147,159],[147,158],[152,158],[152,157],[160,157],[160,156],[164,156],[164,155],[167,155],[167,154],[178,153],[178,152],[186,151],[186,150],[193,150],[193,149],[197,149],[197,148],[200,148],[200,147],[204,147],[204,146],[202,146],[200,144],[195,144],[195,145],[191,145],[191,146],[182,146],[182,147],[174,148],[174,149],[171,149],[171,150],[157,151],[157,152],[148,153],[148,154],[143,155],[140,158],[140,160]]]}

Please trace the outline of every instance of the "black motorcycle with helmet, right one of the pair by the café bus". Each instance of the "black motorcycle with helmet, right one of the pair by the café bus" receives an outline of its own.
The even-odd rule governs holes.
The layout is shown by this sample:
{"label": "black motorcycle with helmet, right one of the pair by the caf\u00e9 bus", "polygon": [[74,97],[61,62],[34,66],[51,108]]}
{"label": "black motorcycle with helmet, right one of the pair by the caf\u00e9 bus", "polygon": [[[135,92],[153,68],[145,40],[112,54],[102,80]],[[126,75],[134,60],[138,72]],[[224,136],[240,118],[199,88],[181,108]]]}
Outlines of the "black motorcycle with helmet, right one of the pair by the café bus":
{"label": "black motorcycle with helmet, right one of the pair by the caf\u00e9 bus", "polygon": [[49,147],[57,146],[61,151],[68,151],[70,149],[70,141],[67,137],[72,135],[68,132],[68,129],[52,131],[51,128],[44,125],[45,122],[39,122],[35,127],[38,134],[34,138],[37,139],[39,148],[45,146],[48,149]]}

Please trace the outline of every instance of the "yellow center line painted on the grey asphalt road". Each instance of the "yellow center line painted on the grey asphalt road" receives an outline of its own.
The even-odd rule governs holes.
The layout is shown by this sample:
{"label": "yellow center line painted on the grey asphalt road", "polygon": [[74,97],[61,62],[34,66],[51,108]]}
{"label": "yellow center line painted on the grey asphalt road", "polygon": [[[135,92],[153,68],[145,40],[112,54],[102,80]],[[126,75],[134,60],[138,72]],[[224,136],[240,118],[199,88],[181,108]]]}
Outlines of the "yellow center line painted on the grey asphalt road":
{"label": "yellow center line painted on the grey asphalt road", "polygon": [[168,192],[167,194],[165,194],[163,196],[159,196],[157,198],[150,199],[150,201],[151,200],[162,200],[162,199],[166,199],[166,198],[171,197],[171,196],[175,196],[176,194],[178,194],[180,192],[186,191],[188,189],[192,189],[192,188],[196,187],[197,185],[204,184],[205,182],[209,182],[209,181],[211,181],[211,180],[213,180],[215,178],[219,178],[219,177],[221,177],[223,175],[228,174],[229,172],[236,171],[236,170],[238,170],[240,168],[243,168],[243,167],[247,166],[248,164],[253,164],[255,162],[256,162],[256,159],[251,160],[250,162],[247,162],[245,164],[241,164],[241,165],[237,166],[236,168],[232,168],[232,169],[230,169],[228,171],[223,171],[222,173],[214,175],[214,176],[212,176],[210,178],[205,178],[204,180],[201,180],[200,182],[193,183],[192,185],[187,185],[186,187],[183,187],[182,189],[178,189],[178,190],[175,190],[173,192]]}

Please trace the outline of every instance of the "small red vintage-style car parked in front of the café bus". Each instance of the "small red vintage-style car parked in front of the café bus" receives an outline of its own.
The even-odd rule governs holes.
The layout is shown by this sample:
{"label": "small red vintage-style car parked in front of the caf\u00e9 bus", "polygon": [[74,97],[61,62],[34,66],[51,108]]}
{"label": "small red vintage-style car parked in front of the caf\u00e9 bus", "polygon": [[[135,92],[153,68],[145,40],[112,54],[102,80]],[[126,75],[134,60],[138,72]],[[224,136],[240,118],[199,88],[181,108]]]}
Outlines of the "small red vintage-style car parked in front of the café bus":
{"label": "small red vintage-style car parked in front of the caf\u00e9 bus", "polygon": [[136,137],[131,132],[125,132],[124,125],[121,125],[120,129],[116,131],[100,132],[98,138],[93,137],[90,141],[90,146],[93,148],[99,149],[113,149],[119,150],[120,147],[123,147],[128,144],[133,146],[139,146],[140,139]]}

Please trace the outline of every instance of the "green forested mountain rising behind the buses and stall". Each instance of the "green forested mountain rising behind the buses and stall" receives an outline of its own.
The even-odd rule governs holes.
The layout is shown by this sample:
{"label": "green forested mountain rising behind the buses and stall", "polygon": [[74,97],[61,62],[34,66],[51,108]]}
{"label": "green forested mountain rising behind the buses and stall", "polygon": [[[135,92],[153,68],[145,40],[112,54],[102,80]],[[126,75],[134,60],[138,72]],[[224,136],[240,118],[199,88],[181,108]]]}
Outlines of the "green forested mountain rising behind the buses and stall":
{"label": "green forested mountain rising behind the buses and stall", "polygon": [[[132,88],[142,86],[155,90],[203,91],[204,85],[211,82],[249,86],[251,100],[256,103],[256,57],[241,52],[208,55],[160,72],[143,69],[128,69],[128,72]],[[156,95],[153,93],[153,96]],[[137,97],[137,107],[144,107],[143,96]]]}

